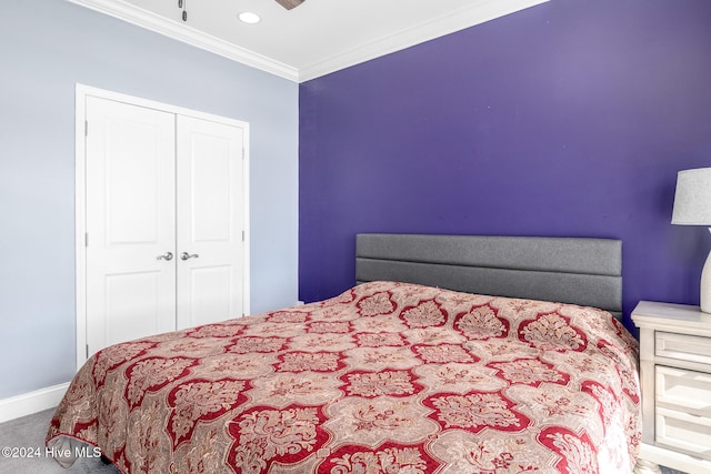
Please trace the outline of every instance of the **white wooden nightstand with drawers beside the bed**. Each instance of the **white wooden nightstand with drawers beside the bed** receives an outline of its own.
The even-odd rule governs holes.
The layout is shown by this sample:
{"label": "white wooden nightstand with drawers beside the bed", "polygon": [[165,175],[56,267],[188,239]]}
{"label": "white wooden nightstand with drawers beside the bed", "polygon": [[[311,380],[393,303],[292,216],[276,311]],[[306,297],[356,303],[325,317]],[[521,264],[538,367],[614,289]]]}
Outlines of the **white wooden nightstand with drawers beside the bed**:
{"label": "white wooden nightstand with drawers beside the bed", "polygon": [[711,314],[641,301],[642,447],[637,473],[658,465],[711,473]]}

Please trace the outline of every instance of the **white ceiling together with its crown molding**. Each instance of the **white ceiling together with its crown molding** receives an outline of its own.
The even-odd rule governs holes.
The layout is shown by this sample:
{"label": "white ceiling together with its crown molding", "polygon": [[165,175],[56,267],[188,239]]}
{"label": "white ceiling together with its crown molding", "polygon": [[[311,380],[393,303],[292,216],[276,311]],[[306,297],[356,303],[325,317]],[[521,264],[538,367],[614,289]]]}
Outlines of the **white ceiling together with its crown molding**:
{"label": "white ceiling together with its crown molding", "polygon": [[548,0],[183,0],[187,21],[178,0],[69,1],[302,82]]}

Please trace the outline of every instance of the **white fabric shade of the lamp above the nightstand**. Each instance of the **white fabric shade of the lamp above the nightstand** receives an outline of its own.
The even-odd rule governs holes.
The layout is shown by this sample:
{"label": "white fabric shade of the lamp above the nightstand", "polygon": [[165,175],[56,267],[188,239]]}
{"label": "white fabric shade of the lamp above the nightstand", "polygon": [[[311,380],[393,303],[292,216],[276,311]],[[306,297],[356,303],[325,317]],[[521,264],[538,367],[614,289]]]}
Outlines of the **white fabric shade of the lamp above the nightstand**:
{"label": "white fabric shade of the lamp above the nightstand", "polygon": [[711,225],[711,168],[679,172],[671,223]]}

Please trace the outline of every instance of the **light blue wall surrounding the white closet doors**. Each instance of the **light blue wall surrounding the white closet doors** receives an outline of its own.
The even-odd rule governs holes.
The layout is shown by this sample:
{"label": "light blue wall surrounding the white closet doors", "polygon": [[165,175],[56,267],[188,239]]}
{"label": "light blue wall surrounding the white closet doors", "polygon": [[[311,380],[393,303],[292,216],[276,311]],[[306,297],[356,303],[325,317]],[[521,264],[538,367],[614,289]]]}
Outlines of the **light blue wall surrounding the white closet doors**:
{"label": "light blue wall surrounding the white closet doors", "polygon": [[251,306],[298,289],[298,84],[58,0],[0,16],[0,400],[74,373],[74,87],[250,123]]}

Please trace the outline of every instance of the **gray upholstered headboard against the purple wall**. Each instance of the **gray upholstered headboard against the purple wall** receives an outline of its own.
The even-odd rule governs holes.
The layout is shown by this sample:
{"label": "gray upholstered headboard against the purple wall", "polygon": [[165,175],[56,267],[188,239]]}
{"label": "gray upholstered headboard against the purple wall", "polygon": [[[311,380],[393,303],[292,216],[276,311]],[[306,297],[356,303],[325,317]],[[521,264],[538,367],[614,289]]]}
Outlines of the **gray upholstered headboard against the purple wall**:
{"label": "gray upholstered headboard against the purple wall", "polygon": [[622,312],[612,239],[358,234],[358,283],[388,280]]}

